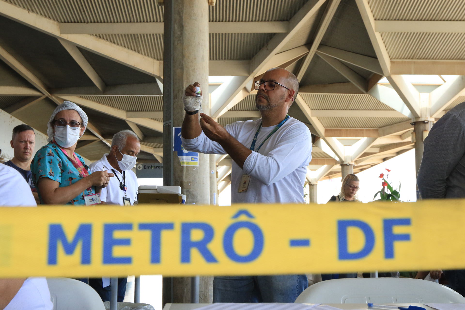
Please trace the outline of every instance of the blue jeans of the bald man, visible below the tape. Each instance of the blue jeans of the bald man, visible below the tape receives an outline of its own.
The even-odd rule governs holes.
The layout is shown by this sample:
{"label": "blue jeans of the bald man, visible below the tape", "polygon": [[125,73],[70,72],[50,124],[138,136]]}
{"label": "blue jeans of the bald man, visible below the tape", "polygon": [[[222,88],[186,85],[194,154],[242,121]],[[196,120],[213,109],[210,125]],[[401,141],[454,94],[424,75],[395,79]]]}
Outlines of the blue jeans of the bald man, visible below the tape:
{"label": "blue jeans of the bald man, visible below the tape", "polygon": [[213,277],[213,303],[293,303],[306,275]]}

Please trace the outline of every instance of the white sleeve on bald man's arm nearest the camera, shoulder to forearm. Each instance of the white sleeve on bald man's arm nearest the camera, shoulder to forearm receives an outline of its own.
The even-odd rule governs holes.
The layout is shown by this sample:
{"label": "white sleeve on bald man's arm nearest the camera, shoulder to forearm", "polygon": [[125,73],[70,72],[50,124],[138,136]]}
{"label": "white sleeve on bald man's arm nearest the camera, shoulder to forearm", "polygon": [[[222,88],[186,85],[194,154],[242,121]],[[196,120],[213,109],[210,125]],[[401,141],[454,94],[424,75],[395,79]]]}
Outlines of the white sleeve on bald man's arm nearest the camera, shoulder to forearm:
{"label": "white sleeve on bald man's arm nearest the camera, shoulder to forearm", "polygon": [[268,155],[252,152],[242,169],[263,184],[270,185],[302,165],[308,165],[310,160],[312,160],[310,134],[305,131],[294,131],[283,137]]}

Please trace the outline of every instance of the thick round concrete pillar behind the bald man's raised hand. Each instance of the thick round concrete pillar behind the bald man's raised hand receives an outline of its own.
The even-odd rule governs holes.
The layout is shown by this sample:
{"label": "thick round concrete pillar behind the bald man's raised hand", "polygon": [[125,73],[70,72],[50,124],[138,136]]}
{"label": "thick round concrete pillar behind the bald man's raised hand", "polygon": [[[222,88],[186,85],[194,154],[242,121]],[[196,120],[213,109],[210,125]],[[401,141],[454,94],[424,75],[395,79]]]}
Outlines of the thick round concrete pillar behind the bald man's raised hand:
{"label": "thick round concrete pillar behind the bald man's raised hand", "polygon": [[[208,100],[208,2],[206,0],[174,0],[173,44],[173,125],[184,119],[182,93],[187,85],[199,82],[203,92],[202,111],[210,114]],[[199,114],[196,114],[199,115]],[[199,166],[181,166],[174,153],[174,185],[181,186],[188,204],[210,204],[210,155],[199,154]],[[209,292],[202,287],[200,292]],[[173,281],[174,303],[191,302],[191,278],[177,277]],[[200,296],[200,300],[209,299]]]}

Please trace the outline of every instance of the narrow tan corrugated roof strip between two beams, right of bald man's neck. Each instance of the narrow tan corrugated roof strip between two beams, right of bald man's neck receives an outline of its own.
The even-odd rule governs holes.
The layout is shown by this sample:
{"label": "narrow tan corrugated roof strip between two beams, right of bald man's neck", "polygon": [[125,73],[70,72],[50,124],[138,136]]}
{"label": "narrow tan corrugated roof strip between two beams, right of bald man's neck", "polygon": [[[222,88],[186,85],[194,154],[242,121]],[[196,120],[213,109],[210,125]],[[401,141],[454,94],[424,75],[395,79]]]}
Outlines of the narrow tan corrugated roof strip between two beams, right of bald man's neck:
{"label": "narrow tan corrugated roof strip between two beams, right of bald man's neck", "polygon": [[409,118],[377,118],[377,117],[319,117],[326,128],[379,128],[409,120]]}

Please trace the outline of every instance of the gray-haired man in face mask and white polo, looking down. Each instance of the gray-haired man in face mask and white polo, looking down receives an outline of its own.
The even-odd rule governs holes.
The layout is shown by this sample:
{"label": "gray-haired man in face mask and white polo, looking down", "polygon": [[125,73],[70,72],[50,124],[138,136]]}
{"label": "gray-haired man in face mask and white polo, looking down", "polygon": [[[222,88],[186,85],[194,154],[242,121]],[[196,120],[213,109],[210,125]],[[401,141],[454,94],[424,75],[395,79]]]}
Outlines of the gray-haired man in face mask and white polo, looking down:
{"label": "gray-haired man in face mask and white polo, looking down", "polygon": [[[133,205],[137,193],[137,177],[131,170],[140,152],[140,141],[130,130],[122,130],[113,136],[110,153],[89,165],[94,171],[112,171],[108,186],[100,192],[100,200],[106,204]],[[118,302],[122,302],[126,292],[126,278],[118,279]],[[110,301],[111,286],[108,278],[89,278],[89,285],[99,293],[103,301]]]}

